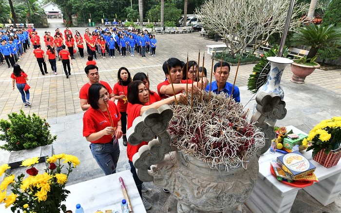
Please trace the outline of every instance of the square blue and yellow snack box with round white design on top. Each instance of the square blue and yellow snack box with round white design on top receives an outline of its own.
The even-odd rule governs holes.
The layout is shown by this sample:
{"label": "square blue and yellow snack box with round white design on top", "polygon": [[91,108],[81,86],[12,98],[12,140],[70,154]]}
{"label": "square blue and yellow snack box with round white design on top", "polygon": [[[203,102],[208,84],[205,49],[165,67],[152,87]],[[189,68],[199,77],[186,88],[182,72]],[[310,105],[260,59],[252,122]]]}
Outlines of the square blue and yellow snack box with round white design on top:
{"label": "square blue and yellow snack box with round white design on top", "polygon": [[294,151],[277,157],[277,163],[292,180],[298,180],[307,174],[315,172],[316,167],[299,151]]}

